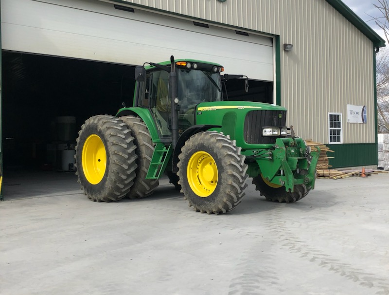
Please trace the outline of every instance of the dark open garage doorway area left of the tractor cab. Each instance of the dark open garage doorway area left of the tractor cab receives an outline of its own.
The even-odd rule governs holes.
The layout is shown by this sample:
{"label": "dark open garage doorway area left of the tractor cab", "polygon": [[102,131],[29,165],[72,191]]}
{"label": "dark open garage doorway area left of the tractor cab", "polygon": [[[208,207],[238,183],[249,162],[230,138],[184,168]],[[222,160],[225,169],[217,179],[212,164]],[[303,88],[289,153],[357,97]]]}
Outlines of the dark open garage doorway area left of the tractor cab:
{"label": "dark open garage doorway area left of the tractor cab", "polygon": [[2,71],[5,175],[74,170],[84,121],[133,99],[133,66],[3,51]]}

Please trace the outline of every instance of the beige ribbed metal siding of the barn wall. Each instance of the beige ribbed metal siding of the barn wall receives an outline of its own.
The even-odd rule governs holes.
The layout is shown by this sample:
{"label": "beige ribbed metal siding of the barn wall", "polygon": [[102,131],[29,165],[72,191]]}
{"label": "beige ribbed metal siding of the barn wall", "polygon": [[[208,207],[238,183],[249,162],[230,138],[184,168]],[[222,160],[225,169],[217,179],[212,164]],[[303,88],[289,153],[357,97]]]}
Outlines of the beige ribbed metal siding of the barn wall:
{"label": "beige ribbed metal siding of the barn wall", "polygon": [[[294,45],[292,52],[281,52],[281,103],[288,108],[288,123],[301,137],[328,143],[328,112],[341,112],[343,143],[375,142],[372,42],[327,1],[127,2],[280,35],[281,46]],[[367,124],[347,123],[347,104],[366,105]]]}

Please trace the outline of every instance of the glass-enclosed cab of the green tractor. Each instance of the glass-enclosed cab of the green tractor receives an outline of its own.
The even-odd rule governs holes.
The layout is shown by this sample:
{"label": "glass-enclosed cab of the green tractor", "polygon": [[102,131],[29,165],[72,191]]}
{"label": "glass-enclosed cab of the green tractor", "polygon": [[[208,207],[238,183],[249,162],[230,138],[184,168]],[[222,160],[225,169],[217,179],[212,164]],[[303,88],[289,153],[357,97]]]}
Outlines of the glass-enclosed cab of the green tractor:
{"label": "glass-enclosed cab of the green tractor", "polygon": [[[153,64],[145,68],[144,76],[138,81],[135,106],[148,108],[154,117],[160,136],[172,136],[171,95],[169,95],[170,62]],[[220,73],[223,67],[195,60],[175,62],[177,85],[175,109],[177,111],[178,134],[195,125],[195,107],[201,102],[222,100]],[[143,80],[143,81],[141,81]]]}

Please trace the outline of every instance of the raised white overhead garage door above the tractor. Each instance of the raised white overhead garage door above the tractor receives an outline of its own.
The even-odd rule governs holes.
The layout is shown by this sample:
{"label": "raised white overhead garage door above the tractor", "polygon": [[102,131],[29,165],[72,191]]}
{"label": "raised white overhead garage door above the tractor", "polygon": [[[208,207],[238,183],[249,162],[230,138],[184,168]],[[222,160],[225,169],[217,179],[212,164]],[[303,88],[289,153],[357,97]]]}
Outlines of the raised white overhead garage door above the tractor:
{"label": "raised white overhead garage door above the tractor", "polygon": [[174,55],[273,81],[272,38],[99,0],[1,0],[1,33],[5,50],[131,65]]}

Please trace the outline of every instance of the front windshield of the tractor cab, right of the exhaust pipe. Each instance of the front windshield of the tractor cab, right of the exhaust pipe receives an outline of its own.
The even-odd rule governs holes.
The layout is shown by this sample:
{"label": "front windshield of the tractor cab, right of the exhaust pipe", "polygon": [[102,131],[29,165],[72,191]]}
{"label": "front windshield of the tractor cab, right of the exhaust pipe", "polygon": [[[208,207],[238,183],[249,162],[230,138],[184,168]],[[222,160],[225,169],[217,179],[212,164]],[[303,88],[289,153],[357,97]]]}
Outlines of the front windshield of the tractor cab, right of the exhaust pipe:
{"label": "front windshield of the tractor cab, right of the exhaust pipe", "polygon": [[181,108],[194,108],[196,104],[205,101],[221,101],[219,73],[186,69],[179,69],[177,72]]}

